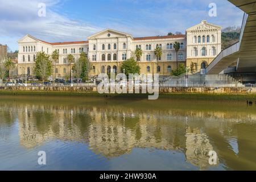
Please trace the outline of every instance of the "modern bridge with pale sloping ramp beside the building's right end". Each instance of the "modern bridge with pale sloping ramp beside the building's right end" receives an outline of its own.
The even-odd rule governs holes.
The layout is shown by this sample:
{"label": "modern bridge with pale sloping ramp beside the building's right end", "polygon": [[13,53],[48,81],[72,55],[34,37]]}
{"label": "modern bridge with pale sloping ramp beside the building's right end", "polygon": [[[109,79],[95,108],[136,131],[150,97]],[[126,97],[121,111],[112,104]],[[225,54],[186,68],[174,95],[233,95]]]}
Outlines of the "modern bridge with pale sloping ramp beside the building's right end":
{"label": "modern bridge with pale sloping ramp beside the building's right end", "polygon": [[207,75],[219,74],[229,65],[237,63],[234,72],[256,73],[256,1],[228,0],[245,12],[239,42],[224,49],[209,64]]}

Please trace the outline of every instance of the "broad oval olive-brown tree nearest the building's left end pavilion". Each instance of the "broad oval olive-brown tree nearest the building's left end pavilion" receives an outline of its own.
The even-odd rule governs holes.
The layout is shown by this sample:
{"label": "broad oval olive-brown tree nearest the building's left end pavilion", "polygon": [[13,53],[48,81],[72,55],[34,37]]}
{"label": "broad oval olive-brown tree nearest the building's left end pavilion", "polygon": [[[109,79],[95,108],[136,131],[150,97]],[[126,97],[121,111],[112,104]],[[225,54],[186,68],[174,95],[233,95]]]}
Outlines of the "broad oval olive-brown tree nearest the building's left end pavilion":
{"label": "broad oval olive-brown tree nearest the building's left end pavilion", "polygon": [[47,80],[52,75],[52,61],[49,59],[49,55],[44,52],[38,52],[36,54],[34,72],[36,77],[40,80]]}

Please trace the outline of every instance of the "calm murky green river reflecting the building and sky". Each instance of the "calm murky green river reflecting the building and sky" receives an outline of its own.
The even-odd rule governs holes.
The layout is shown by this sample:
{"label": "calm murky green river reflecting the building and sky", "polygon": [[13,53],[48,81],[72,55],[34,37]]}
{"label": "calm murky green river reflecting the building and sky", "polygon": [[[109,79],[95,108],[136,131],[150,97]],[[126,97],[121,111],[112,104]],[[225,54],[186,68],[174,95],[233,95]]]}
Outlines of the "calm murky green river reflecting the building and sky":
{"label": "calm murky green river reflecting the building and sky", "polygon": [[256,170],[256,106],[1,96],[0,169]]}

